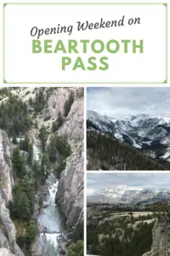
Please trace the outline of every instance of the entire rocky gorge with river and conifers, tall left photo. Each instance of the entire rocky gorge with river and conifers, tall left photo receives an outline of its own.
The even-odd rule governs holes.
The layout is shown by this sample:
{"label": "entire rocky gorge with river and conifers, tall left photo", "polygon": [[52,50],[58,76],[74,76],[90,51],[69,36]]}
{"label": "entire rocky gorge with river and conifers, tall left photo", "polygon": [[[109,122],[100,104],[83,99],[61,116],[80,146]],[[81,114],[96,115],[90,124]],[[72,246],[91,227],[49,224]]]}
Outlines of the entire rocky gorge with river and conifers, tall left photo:
{"label": "entire rocky gorge with river and conifers, tall left photo", "polygon": [[2,88],[0,105],[0,254],[83,252],[83,89]]}

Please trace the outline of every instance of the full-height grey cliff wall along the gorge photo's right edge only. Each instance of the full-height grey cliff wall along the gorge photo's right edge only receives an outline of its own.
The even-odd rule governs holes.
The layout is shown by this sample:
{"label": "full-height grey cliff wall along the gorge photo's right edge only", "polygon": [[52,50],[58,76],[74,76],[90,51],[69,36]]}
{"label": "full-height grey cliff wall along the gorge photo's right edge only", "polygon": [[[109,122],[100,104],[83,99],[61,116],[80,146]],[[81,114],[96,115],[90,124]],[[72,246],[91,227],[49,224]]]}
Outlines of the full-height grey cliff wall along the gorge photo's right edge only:
{"label": "full-height grey cliff wall along the gorge photo's right edge only", "polygon": [[[75,101],[59,134],[68,137],[71,143],[72,154],[67,158],[65,170],[61,172],[56,202],[63,212],[69,238],[76,236],[76,232],[83,221],[83,98],[80,88],[74,90]],[[74,230],[74,232],[73,232]]]}

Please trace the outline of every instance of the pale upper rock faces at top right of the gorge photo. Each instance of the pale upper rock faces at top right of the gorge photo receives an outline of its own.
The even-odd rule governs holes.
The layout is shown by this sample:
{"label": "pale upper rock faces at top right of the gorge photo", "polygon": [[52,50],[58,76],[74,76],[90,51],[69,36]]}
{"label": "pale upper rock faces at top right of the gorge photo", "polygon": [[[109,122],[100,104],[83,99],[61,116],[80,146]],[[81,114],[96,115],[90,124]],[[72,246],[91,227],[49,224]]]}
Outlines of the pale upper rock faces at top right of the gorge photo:
{"label": "pale upper rock faces at top right of the gorge photo", "polygon": [[60,112],[64,114],[65,101],[71,93],[74,93],[74,102],[71,106],[70,113],[65,119],[64,125],[61,126],[58,133],[66,136],[73,144],[80,143],[83,139],[83,122],[84,122],[84,101],[82,88],[58,88],[49,96],[48,108],[44,110],[50,117],[58,116]]}

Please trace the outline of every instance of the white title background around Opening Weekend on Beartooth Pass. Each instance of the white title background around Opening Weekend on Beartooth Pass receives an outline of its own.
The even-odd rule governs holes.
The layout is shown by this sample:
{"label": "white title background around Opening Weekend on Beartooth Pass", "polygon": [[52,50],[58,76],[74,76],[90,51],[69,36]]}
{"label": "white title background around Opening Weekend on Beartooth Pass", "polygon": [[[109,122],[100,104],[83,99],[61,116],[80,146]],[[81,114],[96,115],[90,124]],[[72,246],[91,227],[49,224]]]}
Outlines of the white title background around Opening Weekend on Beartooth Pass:
{"label": "white title background around Opening Weekend on Beartooth Pass", "polygon": [[[163,83],[166,74],[166,7],[159,5],[11,5],[5,7],[5,73],[8,83]],[[77,32],[77,21],[99,22],[100,18],[120,20],[125,15],[125,26],[101,28]],[[140,25],[128,26],[127,20],[140,18]],[[68,39],[101,39],[105,43],[111,39],[144,40],[144,53],[133,54],[132,44],[124,54],[123,45],[116,54],[106,50],[94,54],[88,47],[87,54],[52,53],[32,54],[31,28],[73,25],[71,36],[68,33],[44,35],[40,39],[52,39],[54,43],[61,39],[68,44]],[[43,43],[42,43],[43,44]],[[55,47],[55,44],[54,44]],[[53,47],[53,49],[54,49]],[[72,63],[61,70],[61,57],[70,56]],[[96,56],[97,63],[101,56],[108,57],[109,69],[101,71],[72,71],[77,56],[81,56],[85,67],[88,57]]]}

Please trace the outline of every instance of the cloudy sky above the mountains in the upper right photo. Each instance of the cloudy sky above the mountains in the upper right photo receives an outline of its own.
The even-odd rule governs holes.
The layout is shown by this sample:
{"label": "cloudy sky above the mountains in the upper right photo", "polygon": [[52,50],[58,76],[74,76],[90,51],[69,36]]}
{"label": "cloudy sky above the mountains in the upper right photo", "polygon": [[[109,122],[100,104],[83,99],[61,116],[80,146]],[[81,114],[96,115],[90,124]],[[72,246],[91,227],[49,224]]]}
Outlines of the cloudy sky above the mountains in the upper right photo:
{"label": "cloudy sky above the mountains in the upper right photo", "polygon": [[170,113],[170,88],[89,88],[87,108],[108,116]]}

